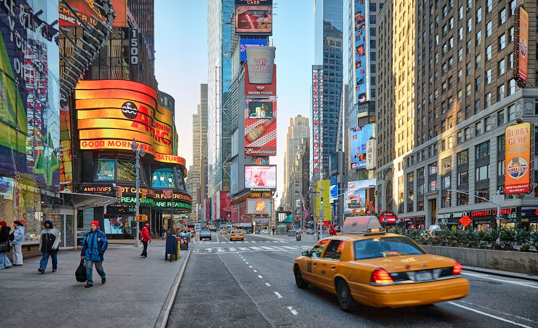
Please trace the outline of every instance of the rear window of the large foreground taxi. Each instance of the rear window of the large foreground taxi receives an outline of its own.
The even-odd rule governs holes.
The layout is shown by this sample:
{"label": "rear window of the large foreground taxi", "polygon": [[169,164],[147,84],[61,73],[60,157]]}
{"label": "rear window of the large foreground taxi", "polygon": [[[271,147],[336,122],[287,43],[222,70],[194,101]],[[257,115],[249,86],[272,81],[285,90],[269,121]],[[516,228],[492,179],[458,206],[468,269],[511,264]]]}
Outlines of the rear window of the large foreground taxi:
{"label": "rear window of the large foreground taxi", "polygon": [[407,237],[380,237],[353,241],[355,260],[424,254]]}

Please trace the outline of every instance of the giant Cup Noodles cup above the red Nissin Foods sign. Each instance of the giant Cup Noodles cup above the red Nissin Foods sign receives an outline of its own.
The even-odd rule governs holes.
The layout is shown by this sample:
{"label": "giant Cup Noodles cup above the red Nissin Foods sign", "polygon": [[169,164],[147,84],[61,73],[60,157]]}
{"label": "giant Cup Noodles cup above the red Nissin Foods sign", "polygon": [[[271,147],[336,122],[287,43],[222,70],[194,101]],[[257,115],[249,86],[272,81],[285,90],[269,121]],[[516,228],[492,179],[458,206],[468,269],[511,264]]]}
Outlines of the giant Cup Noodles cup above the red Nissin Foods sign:
{"label": "giant Cup Noodles cup above the red Nissin Foods sign", "polygon": [[275,47],[246,47],[246,66],[249,69],[249,83],[273,83]]}

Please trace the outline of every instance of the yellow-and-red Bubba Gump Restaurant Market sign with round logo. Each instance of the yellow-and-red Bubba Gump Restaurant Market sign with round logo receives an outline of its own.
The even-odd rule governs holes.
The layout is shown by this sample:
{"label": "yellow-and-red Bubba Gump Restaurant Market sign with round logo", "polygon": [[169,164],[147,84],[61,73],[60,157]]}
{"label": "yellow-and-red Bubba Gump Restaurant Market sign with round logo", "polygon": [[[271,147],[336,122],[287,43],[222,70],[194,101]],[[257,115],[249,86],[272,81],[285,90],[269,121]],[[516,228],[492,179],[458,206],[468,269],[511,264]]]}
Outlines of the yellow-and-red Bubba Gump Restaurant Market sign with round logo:
{"label": "yellow-and-red Bubba Gump Restaurant Market sign with round logo", "polygon": [[505,194],[528,194],[534,173],[534,124],[523,122],[505,130]]}

